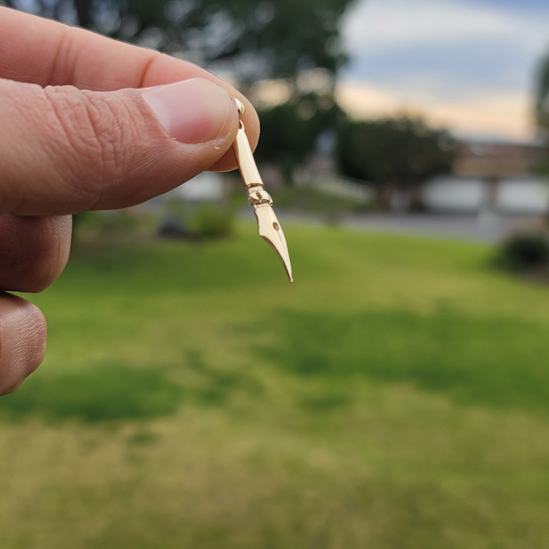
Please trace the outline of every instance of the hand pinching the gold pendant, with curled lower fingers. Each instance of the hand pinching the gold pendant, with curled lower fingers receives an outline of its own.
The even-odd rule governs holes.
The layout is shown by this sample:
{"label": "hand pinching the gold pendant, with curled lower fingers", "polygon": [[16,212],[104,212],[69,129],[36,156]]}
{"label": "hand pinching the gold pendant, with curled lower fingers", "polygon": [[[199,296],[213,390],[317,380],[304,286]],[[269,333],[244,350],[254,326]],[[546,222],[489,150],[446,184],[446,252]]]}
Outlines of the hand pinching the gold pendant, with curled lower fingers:
{"label": "hand pinching the gold pendant, with curled lower fingers", "polygon": [[[203,69],[158,52],[0,7],[0,290],[40,292],[69,256],[71,217],[138,204],[230,150],[249,102]],[[0,394],[46,349],[40,310],[0,293]]]}

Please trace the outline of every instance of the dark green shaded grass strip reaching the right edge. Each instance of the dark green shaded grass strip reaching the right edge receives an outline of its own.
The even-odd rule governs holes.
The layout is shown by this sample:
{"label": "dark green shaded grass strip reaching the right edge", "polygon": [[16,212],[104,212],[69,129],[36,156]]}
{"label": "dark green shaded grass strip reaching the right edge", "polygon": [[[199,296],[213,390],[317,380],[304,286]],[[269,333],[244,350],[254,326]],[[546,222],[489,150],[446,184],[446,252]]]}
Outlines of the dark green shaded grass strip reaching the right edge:
{"label": "dark green shaded grass strip reaching the right edge", "polygon": [[[275,343],[257,345],[256,354],[302,377],[363,374],[459,401],[549,408],[549,333],[540,324],[451,310],[279,311],[264,328]],[[329,408],[340,400],[305,404]]]}

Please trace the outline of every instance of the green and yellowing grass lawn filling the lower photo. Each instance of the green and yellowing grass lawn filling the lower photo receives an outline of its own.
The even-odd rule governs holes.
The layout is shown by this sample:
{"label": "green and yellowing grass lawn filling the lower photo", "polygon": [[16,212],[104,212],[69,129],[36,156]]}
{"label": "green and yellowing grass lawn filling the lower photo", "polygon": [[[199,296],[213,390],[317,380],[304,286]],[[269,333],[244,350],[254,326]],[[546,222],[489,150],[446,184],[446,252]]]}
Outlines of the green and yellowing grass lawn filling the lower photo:
{"label": "green and yellowing grass lawn filling the lower photo", "polygon": [[0,399],[2,549],[549,547],[549,289],[286,228],[80,250]]}

